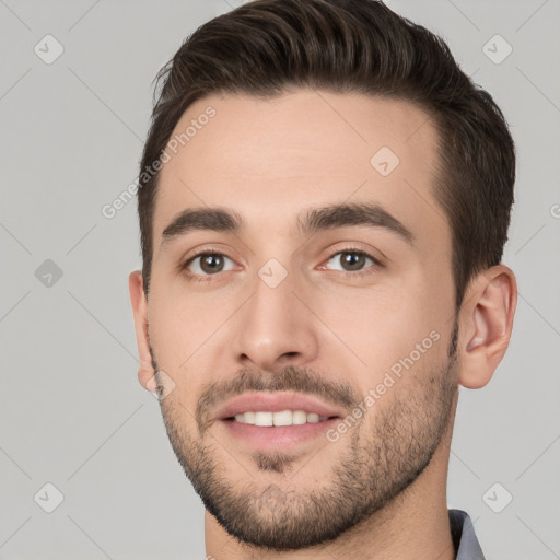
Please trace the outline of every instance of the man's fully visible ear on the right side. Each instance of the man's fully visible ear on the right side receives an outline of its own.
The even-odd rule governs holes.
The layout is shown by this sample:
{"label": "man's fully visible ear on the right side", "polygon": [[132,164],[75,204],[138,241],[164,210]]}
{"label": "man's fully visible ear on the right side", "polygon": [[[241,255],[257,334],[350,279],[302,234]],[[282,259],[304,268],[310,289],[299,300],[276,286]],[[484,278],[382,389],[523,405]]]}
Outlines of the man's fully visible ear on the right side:
{"label": "man's fully visible ear on the right side", "polygon": [[513,327],[517,283],[504,265],[479,273],[469,284],[460,310],[459,378],[464,387],[483,387],[501,362]]}

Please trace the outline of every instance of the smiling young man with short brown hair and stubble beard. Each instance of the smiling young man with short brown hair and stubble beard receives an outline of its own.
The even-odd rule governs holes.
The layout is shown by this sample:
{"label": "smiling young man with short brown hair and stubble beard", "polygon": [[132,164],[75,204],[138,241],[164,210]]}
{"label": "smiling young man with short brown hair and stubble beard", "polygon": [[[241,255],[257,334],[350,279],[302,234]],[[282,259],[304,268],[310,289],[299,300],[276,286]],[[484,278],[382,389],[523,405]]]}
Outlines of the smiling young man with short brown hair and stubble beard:
{"label": "smiling young man with short brown hair and stubble beard", "polygon": [[210,558],[483,558],[447,510],[458,386],[516,304],[514,145],[445,44],[373,0],[261,0],[160,73],[130,275]]}

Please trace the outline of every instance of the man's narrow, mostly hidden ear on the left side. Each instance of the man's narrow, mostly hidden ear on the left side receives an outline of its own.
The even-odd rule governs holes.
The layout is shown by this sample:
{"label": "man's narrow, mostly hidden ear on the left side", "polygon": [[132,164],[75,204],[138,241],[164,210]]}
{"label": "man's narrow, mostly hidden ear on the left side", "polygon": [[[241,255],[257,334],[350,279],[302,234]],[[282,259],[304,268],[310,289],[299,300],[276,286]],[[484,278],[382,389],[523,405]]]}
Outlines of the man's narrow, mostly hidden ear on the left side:
{"label": "man's narrow, mostly hidden ear on the left side", "polygon": [[148,302],[144,293],[142,272],[140,270],[130,272],[130,276],[128,277],[128,289],[130,291],[130,301],[132,303],[136,340],[140,360],[138,381],[142,387],[153,393],[156,390],[155,371],[152,365],[150,338],[148,335]]}

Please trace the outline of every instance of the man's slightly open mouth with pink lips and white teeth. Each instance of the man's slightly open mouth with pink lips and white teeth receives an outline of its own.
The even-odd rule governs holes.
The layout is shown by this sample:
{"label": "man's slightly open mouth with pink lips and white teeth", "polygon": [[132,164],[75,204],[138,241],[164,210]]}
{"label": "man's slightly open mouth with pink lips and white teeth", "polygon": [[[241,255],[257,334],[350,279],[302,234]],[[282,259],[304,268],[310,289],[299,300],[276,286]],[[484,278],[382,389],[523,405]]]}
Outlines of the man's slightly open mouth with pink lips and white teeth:
{"label": "man's slightly open mouth with pink lips and white teeth", "polygon": [[242,395],[219,420],[226,434],[261,451],[285,448],[320,435],[341,420],[339,411],[314,398],[287,393]]}

